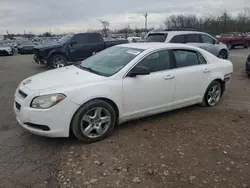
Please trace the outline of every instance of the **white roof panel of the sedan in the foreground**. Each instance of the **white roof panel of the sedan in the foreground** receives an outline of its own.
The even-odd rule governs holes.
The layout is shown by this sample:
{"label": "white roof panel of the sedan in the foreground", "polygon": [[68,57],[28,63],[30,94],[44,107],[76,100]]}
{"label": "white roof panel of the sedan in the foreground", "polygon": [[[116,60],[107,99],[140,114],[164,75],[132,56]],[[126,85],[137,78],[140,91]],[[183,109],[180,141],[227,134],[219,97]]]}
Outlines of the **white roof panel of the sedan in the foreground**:
{"label": "white roof panel of the sedan in the foreground", "polygon": [[161,42],[143,42],[143,43],[126,43],[120,44],[118,46],[127,47],[127,48],[138,48],[138,49],[160,49],[160,48],[189,48],[197,49],[195,46],[188,44],[178,44],[178,43],[161,43]]}

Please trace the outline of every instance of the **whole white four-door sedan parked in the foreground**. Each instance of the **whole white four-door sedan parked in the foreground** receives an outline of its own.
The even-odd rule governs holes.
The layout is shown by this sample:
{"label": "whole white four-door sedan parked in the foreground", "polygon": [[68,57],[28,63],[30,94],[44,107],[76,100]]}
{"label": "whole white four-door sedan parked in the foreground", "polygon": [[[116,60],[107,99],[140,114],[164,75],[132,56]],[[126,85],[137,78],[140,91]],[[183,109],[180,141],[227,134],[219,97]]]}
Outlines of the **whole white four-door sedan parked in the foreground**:
{"label": "whole white four-door sedan parked in the foreground", "polygon": [[215,106],[232,63],[185,44],[130,43],[108,48],[78,65],[37,74],[15,92],[17,121],[28,131],[84,142],[114,126],[194,104]]}

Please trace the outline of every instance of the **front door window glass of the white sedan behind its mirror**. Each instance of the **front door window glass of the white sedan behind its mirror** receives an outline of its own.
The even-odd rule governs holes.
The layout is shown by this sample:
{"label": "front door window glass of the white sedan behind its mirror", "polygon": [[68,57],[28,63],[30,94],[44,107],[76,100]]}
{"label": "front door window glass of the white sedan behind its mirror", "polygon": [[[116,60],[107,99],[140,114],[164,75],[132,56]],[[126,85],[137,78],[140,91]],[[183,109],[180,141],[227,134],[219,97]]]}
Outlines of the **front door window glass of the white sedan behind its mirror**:
{"label": "front door window glass of the white sedan behind its mirror", "polygon": [[163,50],[159,52],[154,52],[145,57],[136,66],[147,67],[150,72],[157,72],[170,69],[169,51]]}

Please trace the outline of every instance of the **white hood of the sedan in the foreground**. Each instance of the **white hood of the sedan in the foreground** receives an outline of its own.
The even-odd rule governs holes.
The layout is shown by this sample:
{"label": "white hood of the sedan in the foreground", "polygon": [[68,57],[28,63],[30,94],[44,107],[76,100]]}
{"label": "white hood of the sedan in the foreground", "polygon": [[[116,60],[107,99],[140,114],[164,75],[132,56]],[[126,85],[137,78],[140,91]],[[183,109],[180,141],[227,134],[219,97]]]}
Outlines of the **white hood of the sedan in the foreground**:
{"label": "white hood of the sedan in the foreground", "polygon": [[101,82],[105,78],[72,65],[31,76],[21,84],[27,89],[40,91],[77,84],[91,84]]}

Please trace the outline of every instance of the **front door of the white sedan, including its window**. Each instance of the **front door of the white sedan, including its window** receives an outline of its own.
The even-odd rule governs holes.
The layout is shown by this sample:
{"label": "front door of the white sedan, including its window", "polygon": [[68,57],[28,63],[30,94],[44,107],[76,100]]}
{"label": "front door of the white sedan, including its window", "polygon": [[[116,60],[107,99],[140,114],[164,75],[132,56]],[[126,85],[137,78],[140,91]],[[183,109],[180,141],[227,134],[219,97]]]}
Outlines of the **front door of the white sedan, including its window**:
{"label": "front door of the white sedan, including its window", "polygon": [[124,118],[145,116],[171,108],[175,92],[175,71],[168,50],[153,52],[136,66],[150,70],[149,75],[124,77]]}

